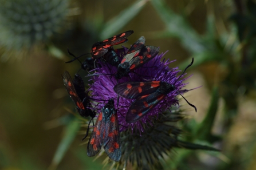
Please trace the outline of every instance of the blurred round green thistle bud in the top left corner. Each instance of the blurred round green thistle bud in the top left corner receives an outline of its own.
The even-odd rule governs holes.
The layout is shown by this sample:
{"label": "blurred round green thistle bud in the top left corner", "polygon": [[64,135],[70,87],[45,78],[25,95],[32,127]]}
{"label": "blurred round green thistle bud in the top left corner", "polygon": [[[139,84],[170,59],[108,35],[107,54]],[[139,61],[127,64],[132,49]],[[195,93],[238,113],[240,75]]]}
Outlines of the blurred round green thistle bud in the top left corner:
{"label": "blurred round green thistle bud in the top left corner", "polygon": [[9,54],[31,50],[64,25],[69,0],[3,0],[0,6],[0,45]]}

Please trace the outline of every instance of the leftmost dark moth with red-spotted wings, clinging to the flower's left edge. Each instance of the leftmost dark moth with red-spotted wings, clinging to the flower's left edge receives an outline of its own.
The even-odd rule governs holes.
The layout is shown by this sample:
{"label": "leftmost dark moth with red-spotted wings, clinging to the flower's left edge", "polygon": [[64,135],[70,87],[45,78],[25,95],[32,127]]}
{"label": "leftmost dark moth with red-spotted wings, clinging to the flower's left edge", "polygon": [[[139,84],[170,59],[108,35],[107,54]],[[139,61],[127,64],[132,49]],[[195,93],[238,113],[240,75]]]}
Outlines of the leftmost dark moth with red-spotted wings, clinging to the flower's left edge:
{"label": "leftmost dark moth with red-spotted wings, clinging to the flower's left edge", "polygon": [[[90,97],[85,92],[84,88],[84,81],[82,80],[82,77],[79,74],[74,75],[74,80],[72,80],[69,72],[65,71],[63,76],[63,82],[66,87],[66,90],[68,91],[70,97],[74,101],[74,104],[76,105],[77,112],[82,117],[92,117],[90,121],[93,120],[93,117],[96,116],[96,112],[90,108],[92,108],[92,105],[90,104]],[[89,125],[90,125],[89,121]],[[82,140],[84,140],[88,136],[89,132],[89,125],[88,130],[86,132],[86,135]]]}

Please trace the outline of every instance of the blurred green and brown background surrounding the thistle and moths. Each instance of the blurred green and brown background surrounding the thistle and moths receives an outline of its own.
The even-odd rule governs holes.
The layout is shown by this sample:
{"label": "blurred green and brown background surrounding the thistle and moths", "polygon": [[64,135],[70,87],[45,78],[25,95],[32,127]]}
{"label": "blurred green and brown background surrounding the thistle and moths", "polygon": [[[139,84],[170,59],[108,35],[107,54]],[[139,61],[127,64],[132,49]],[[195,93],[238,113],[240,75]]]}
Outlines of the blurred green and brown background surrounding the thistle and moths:
{"label": "blurred green and brown background surrounding the thistle and moths", "polygon": [[[80,69],[72,57],[94,42],[134,30],[188,70],[182,101],[187,140],[220,153],[174,149],[169,169],[256,169],[256,5],[246,0],[1,0],[0,169],[102,169],[86,156],[85,127],[69,110],[61,74]],[[86,74],[86,73],[84,73]],[[184,127],[184,128],[183,128]],[[80,130],[81,132],[80,132]],[[78,133],[77,133],[78,131]],[[58,149],[57,149],[58,148]],[[55,156],[54,156],[55,155]],[[103,169],[109,169],[111,165]],[[127,168],[132,169],[132,168]]]}

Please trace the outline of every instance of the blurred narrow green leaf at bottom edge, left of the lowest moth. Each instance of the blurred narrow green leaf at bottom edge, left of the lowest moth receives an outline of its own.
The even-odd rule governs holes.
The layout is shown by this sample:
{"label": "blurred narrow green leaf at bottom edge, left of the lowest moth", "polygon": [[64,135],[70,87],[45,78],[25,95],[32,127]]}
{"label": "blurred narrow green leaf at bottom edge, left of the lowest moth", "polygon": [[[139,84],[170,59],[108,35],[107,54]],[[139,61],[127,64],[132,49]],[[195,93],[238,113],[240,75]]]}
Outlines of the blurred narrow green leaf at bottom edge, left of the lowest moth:
{"label": "blurred narrow green leaf at bottom edge, left of the lowest moth", "polygon": [[52,164],[49,169],[56,169],[57,165],[60,164],[62,158],[64,157],[66,151],[68,151],[70,144],[73,142],[74,137],[77,135],[77,131],[80,129],[80,122],[78,118],[70,121],[68,126],[65,128],[64,136],[60,144],[58,145],[57,151],[53,157]]}

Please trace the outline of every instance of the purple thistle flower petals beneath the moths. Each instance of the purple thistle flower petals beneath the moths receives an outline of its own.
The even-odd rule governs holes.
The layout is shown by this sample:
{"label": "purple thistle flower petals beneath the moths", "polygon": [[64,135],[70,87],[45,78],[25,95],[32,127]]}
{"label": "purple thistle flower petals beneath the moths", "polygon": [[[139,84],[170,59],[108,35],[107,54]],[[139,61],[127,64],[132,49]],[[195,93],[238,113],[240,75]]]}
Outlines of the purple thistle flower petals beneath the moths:
{"label": "purple thistle flower petals beneath the moths", "polygon": [[[183,94],[185,92],[188,92],[188,90],[183,89],[186,84],[183,83],[184,80],[187,78],[179,79],[179,76],[177,74],[180,72],[177,68],[169,68],[168,65],[171,62],[170,60],[165,59],[163,61],[162,58],[166,53],[162,53],[154,57],[152,60],[147,62],[143,65],[142,68],[138,68],[135,70],[135,73],[129,73],[129,77],[123,77],[119,80],[119,83],[121,82],[129,82],[129,81],[145,81],[147,80],[153,80],[153,81],[166,81],[169,84],[175,84],[176,90],[173,90],[172,92],[168,93],[167,96],[164,98],[164,100],[160,101],[159,104],[157,104],[155,107],[153,107],[146,116],[140,119],[140,121],[137,121],[135,123],[128,123],[125,121],[125,114],[127,113],[129,106],[131,106],[132,102],[134,100],[127,99],[123,97],[119,97],[119,104],[118,104],[118,119],[120,126],[120,132],[127,130],[128,128],[131,128],[132,132],[133,130],[137,129],[141,135],[141,132],[144,132],[144,124],[149,124],[153,126],[152,117],[157,117],[159,114],[162,114],[165,110],[170,108],[172,105],[178,105],[179,102],[176,96],[179,95],[179,93]],[[121,56],[120,56],[121,57]],[[117,80],[115,78],[115,73],[117,72],[117,68],[113,67],[107,63],[100,62],[101,68],[97,68],[97,73],[99,74],[108,74],[108,75],[100,75],[100,76],[93,76],[93,84],[90,85],[90,90],[92,90],[92,97],[96,98],[98,100],[109,100],[110,98],[113,98],[115,100],[115,105],[117,108],[117,97],[118,94],[113,90],[114,86],[117,84]],[[109,76],[109,74],[112,74],[113,76]],[[184,75],[183,75],[184,76]],[[183,77],[181,76],[181,77]],[[143,79],[143,78],[144,79]],[[175,83],[176,82],[176,83]],[[178,93],[178,92],[179,93]],[[94,104],[97,109],[103,108],[107,101],[99,101],[99,103]],[[99,111],[100,112],[100,111]],[[136,131],[135,131],[136,132]]]}

